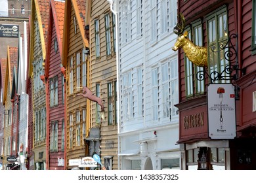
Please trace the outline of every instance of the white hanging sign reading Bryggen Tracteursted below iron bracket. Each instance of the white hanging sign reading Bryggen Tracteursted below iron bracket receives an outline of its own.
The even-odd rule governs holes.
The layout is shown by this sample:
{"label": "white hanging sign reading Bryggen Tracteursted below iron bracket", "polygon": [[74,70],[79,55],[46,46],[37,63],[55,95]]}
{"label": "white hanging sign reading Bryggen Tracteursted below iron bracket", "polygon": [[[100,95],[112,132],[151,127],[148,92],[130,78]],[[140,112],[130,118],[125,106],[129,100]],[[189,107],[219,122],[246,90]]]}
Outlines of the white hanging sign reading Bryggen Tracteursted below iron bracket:
{"label": "white hanging sign reading Bryggen Tracteursted below iron bracket", "polygon": [[232,84],[209,84],[208,131],[211,139],[236,137],[236,105]]}

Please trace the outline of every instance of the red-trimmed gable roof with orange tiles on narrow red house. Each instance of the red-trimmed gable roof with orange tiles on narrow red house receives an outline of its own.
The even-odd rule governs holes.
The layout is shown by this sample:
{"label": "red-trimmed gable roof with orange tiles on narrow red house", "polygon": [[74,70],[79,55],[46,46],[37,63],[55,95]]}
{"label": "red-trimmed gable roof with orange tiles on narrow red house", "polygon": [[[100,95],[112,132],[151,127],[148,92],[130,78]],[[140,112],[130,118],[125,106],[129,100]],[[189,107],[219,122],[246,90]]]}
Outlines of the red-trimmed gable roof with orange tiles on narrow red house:
{"label": "red-trimmed gable roof with orange tiles on narrow red house", "polygon": [[58,50],[60,52],[60,57],[62,56],[62,39],[63,39],[63,27],[64,27],[64,10],[65,3],[60,1],[50,0],[50,13],[49,13],[49,37],[48,37],[48,45],[47,45],[47,56],[45,59],[45,76],[49,74],[49,61],[51,55],[51,39],[53,37],[53,33],[51,32],[53,29],[53,24],[56,29],[56,39],[58,41]]}

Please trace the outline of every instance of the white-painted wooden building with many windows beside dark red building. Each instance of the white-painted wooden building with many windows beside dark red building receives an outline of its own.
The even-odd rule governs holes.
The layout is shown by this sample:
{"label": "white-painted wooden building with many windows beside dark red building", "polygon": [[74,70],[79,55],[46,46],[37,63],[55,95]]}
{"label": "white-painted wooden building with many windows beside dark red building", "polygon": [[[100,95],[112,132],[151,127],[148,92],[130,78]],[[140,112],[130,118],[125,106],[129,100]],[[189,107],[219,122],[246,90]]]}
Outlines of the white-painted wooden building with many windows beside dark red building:
{"label": "white-painted wooden building with many windows beside dark red building", "polygon": [[119,169],[180,169],[177,1],[116,4]]}

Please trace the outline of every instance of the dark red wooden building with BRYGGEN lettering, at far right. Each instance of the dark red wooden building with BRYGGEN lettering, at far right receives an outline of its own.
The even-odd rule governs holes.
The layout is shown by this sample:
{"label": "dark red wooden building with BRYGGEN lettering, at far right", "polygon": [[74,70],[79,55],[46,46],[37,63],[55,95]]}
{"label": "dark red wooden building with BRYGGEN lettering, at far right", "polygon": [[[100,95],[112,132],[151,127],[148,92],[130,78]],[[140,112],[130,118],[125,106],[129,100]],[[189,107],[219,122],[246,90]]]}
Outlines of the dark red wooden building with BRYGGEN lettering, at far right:
{"label": "dark red wooden building with BRYGGEN lettering, at far right", "polygon": [[178,12],[182,33],[207,50],[198,67],[179,49],[181,167],[256,169],[256,1],[182,0]]}

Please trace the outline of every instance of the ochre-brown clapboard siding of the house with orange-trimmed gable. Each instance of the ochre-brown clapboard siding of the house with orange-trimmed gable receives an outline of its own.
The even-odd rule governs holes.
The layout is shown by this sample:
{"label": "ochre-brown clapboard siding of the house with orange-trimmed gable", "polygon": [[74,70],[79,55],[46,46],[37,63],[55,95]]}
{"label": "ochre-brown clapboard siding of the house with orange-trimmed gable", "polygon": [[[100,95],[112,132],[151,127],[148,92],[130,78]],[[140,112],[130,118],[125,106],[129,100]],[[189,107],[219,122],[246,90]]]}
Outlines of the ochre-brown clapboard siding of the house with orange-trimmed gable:
{"label": "ochre-brown clapboard siding of the house with orange-trimmed gable", "polygon": [[[75,7],[73,2],[77,2],[77,6]],[[70,165],[68,165],[68,160],[69,159],[79,159],[82,156],[87,156],[87,154],[85,154],[86,150],[85,150],[85,145],[83,144],[83,138],[82,138],[82,125],[80,127],[80,131],[81,131],[81,140],[80,140],[80,146],[76,145],[76,126],[73,126],[73,131],[72,131],[72,135],[73,135],[73,143],[70,146],[70,129],[69,129],[69,116],[70,114],[73,114],[73,122],[75,124],[76,122],[76,116],[75,116],[75,112],[80,111],[80,115],[82,115],[82,109],[86,108],[86,99],[84,97],[81,96],[77,96],[77,93],[80,93],[81,90],[76,91],[76,69],[73,70],[74,72],[74,93],[70,94],[70,86],[69,86],[69,79],[70,79],[70,58],[73,57],[73,63],[74,65],[76,64],[76,53],[80,52],[80,59],[82,58],[82,50],[84,48],[84,41],[83,41],[83,37],[81,35],[85,34],[84,29],[80,29],[79,27],[79,23],[81,22],[81,17],[75,17],[76,18],[76,27],[77,27],[77,32],[75,33],[74,30],[74,16],[75,16],[75,9],[81,11],[83,8],[85,8],[85,1],[66,1],[66,6],[68,5],[68,11],[70,12],[70,14],[68,16],[70,16],[68,18],[69,22],[65,22],[64,27],[66,27],[66,25],[68,25],[66,27],[66,33],[67,33],[67,39],[66,42],[63,43],[63,45],[67,46],[67,54],[66,54],[66,58],[67,58],[67,63],[66,65],[64,65],[66,67],[66,119],[67,119],[67,127],[66,127],[66,163],[67,163],[67,167],[68,169],[71,169],[72,167],[70,167]],[[66,13],[66,12],[65,12]],[[85,14],[83,14],[83,16],[85,16]],[[84,28],[84,25],[83,27]],[[64,35],[65,35],[65,29],[64,29]],[[65,54],[65,53],[64,53]],[[80,67],[81,69],[81,67]],[[80,71],[81,74],[81,71]],[[88,75],[87,75],[88,76]],[[88,79],[88,78],[87,78]],[[81,80],[81,78],[80,78]],[[80,117],[81,118],[81,117]],[[82,118],[81,118],[82,119]]]}

